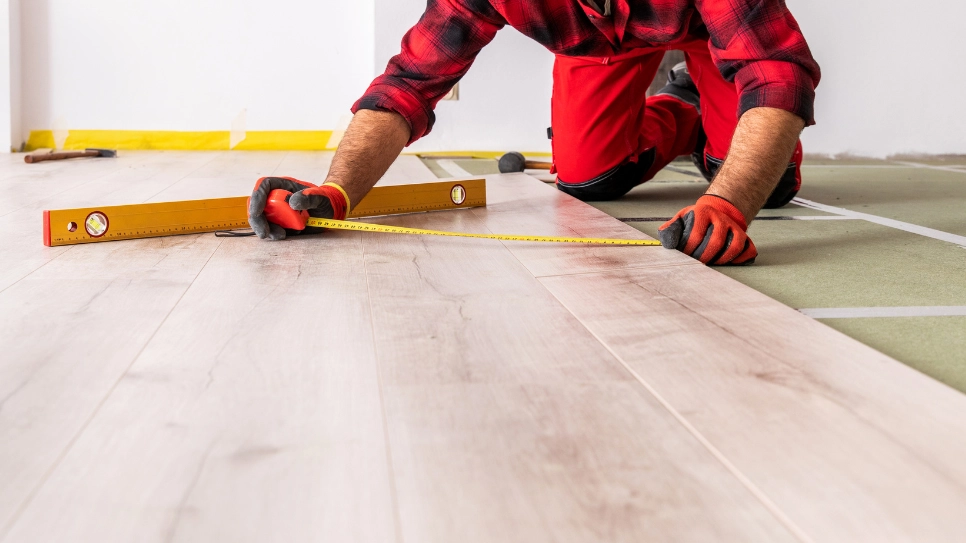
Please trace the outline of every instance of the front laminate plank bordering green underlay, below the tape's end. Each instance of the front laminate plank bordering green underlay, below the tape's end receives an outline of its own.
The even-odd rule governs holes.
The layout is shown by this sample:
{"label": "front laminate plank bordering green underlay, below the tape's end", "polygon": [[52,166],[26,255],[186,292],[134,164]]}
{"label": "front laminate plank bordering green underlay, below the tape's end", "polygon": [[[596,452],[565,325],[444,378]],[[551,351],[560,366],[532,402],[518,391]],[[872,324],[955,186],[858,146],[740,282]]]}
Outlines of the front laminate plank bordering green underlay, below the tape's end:
{"label": "front laminate plank bordering green underlay, below the tape's end", "polygon": [[541,279],[817,541],[958,541],[966,397],[711,269]]}

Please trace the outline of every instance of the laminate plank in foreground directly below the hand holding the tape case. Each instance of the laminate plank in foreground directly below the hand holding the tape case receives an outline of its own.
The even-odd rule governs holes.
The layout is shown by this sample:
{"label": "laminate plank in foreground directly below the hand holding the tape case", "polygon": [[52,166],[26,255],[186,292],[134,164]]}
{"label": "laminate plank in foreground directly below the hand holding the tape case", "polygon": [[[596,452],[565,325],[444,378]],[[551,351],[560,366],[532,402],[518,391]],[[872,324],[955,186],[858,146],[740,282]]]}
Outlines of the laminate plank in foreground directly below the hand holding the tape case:
{"label": "laminate plank in foreground directly below the hand holding the tape case", "polygon": [[224,240],[5,541],[393,541],[362,268]]}

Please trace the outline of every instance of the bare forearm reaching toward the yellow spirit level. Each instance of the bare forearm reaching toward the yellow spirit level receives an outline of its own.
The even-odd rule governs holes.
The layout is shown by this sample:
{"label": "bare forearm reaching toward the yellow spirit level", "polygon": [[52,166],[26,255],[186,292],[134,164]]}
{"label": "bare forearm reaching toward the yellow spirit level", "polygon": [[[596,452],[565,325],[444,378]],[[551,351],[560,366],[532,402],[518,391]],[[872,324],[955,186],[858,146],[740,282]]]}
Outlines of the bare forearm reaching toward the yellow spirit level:
{"label": "bare forearm reaching toward the yellow spirit level", "polygon": [[326,182],[342,187],[355,206],[396,160],[409,135],[409,125],[398,113],[359,111],[332,159]]}

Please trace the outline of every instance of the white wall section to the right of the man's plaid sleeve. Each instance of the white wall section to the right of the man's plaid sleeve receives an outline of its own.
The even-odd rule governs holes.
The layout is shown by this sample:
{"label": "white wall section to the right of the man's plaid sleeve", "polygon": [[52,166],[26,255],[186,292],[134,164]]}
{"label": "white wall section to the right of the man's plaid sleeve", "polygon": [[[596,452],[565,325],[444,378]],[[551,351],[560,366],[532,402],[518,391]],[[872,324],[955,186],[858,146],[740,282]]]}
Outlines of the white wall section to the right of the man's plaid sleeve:
{"label": "white wall section to the right of the man's plaid sleeve", "polygon": [[822,66],[806,152],[966,153],[966,4],[788,0]]}

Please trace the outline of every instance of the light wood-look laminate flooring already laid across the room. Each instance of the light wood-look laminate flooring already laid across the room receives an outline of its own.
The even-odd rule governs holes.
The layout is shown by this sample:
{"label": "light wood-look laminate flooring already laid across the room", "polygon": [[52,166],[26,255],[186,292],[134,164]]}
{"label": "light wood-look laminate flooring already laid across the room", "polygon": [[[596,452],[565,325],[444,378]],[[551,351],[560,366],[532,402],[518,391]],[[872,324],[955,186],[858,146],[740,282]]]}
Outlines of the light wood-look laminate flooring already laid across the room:
{"label": "light wood-look laminate flooring already laid across the room", "polygon": [[[0,159],[0,541],[963,540],[966,397],[671,251],[41,244],[42,209],[329,159]],[[382,222],[643,236],[524,175],[488,198]]]}

